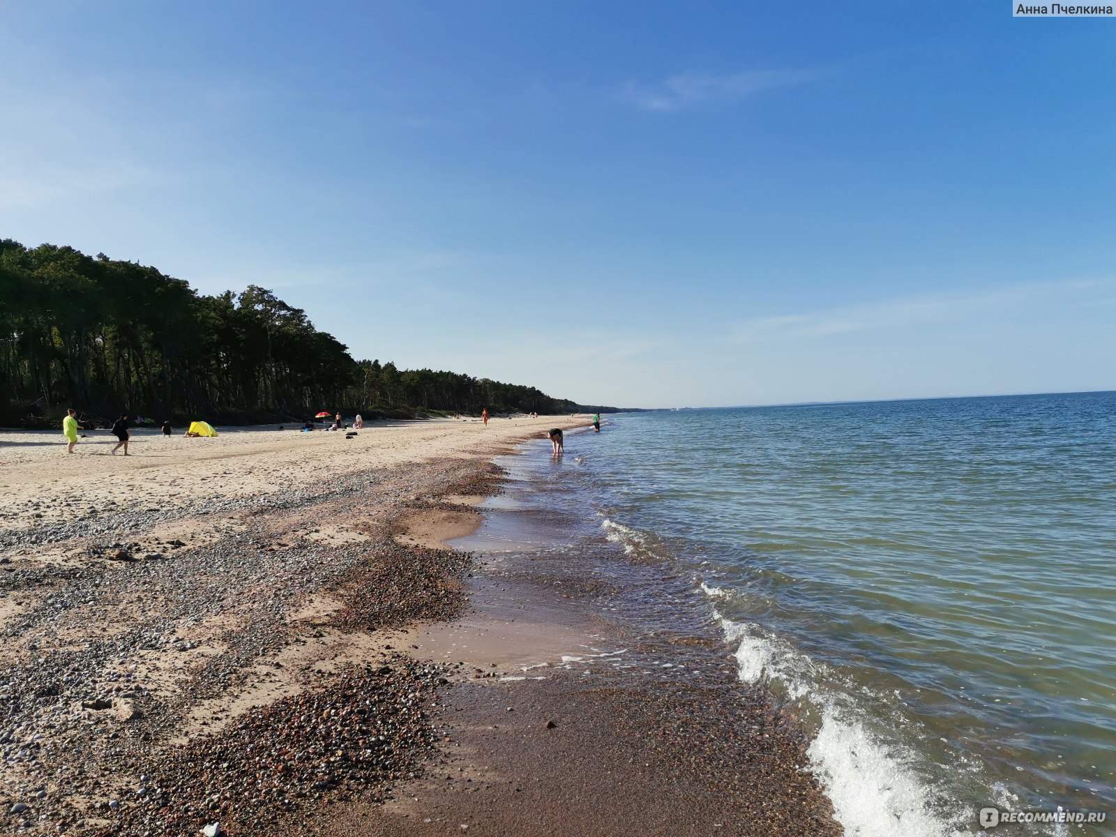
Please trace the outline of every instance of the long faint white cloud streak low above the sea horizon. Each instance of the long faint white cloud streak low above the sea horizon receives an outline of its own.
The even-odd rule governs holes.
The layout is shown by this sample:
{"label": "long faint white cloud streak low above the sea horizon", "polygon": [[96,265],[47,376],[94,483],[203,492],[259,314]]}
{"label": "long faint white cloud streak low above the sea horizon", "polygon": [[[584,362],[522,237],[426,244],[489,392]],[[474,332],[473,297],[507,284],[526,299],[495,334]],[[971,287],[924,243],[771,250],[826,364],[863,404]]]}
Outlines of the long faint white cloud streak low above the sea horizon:
{"label": "long faint white cloud streak low above the sea horizon", "polygon": [[961,321],[973,316],[993,316],[1014,306],[1037,301],[1090,305],[1104,300],[1116,280],[1090,279],[1036,282],[972,295],[927,296],[887,299],[840,306],[809,314],[758,317],[734,327],[728,341],[769,343],[779,339],[826,338],[857,331],[906,328],[927,323]]}

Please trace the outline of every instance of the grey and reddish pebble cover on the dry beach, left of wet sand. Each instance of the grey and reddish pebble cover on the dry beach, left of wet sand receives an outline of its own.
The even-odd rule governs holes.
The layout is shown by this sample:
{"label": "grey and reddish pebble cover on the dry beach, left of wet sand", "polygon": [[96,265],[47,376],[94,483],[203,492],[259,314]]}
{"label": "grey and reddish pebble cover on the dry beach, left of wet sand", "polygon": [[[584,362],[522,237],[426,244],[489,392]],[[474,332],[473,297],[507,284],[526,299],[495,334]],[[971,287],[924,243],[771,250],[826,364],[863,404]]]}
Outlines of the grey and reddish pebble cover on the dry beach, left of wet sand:
{"label": "grey and reddish pebble cover on the dry beach, left of wet sand", "polygon": [[[460,615],[460,578],[472,558],[400,546],[388,512],[413,502],[416,487],[475,472],[440,462],[341,477],[326,489],[311,482],[262,498],[219,497],[206,503],[206,520],[238,514],[235,527],[193,546],[146,533],[196,509],[144,503],[102,502],[84,516],[75,507],[65,519],[0,530],[0,550],[73,541],[84,560],[18,561],[0,573],[0,597],[22,608],[0,623],[11,652],[0,662],[0,776],[9,799],[39,800],[20,827],[84,835],[79,824],[100,818],[114,834],[177,837],[219,815],[222,834],[243,837],[330,800],[381,800],[419,776],[443,738],[427,713],[449,679],[397,652],[374,665],[307,673],[301,694],[222,719],[187,744],[171,741],[199,701],[239,692],[261,660],[306,641],[290,614],[309,593],[344,591],[335,632]],[[354,513],[358,503],[376,506],[376,539],[325,546],[297,533],[305,528],[282,529],[324,502]],[[199,627],[223,620],[235,629]],[[214,643],[220,653],[187,656]],[[172,662],[185,679],[162,695],[150,661],[180,654]],[[66,792],[44,789],[48,769]],[[81,799],[95,801],[74,805]]]}

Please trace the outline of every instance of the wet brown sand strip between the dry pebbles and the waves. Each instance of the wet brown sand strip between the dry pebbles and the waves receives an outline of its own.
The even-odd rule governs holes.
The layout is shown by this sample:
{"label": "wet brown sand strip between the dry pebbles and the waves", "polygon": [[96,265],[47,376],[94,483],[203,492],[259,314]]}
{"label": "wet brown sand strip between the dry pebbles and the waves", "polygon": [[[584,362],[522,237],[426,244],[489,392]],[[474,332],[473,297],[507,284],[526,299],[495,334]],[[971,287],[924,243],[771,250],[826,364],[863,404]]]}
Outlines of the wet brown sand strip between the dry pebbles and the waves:
{"label": "wet brown sand strip between the dry pebbles and the waves", "polygon": [[596,564],[624,564],[622,550],[548,555],[538,527],[514,521],[531,516],[516,478],[481,531],[454,543],[480,559],[468,612],[398,635],[416,657],[472,672],[444,698],[449,756],[314,834],[841,834],[770,693],[741,684],[709,632],[653,636],[609,613],[590,579]]}

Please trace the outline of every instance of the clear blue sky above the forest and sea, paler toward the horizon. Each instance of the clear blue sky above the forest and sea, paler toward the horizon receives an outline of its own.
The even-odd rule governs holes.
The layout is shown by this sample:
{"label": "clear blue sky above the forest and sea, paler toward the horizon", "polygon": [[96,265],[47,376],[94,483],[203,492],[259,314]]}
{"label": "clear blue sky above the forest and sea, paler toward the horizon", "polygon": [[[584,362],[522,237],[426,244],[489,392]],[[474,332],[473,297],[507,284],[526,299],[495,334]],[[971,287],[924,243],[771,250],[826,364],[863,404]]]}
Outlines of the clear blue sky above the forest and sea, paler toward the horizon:
{"label": "clear blue sky above the forest and sea, paler toward the horizon", "polygon": [[0,0],[0,237],[712,406],[1116,388],[1116,20]]}

